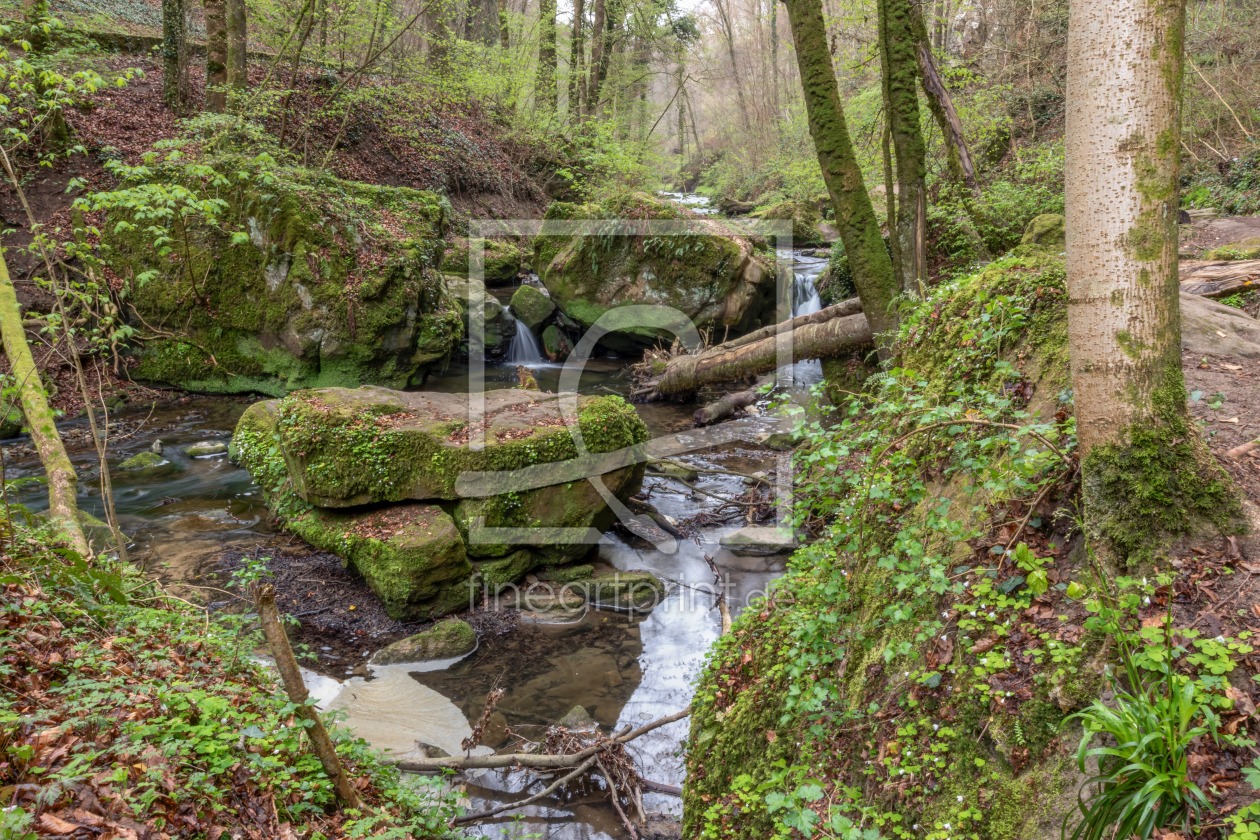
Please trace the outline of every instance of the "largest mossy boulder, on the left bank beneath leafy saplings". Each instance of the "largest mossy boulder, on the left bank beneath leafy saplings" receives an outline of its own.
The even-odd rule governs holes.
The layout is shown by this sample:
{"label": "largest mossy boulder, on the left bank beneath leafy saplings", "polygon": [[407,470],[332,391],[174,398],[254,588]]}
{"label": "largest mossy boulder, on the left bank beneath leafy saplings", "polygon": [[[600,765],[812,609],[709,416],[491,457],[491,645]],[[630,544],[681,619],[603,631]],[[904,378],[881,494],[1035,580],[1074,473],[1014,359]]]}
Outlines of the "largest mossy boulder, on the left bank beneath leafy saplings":
{"label": "largest mossy boulder, on the left bank beneath leafy saplings", "polygon": [[155,167],[127,188],[220,203],[210,219],[188,212],[170,225],[170,256],[149,223],[108,198],[118,193],[89,199],[107,217],[101,256],[127,282],[137,319],[175,332],[137,351],[136,379],[277,397],[403,387],[459,346],[460,310],[437,271],[445,198],[238,159],[208,167],[195,178]]}

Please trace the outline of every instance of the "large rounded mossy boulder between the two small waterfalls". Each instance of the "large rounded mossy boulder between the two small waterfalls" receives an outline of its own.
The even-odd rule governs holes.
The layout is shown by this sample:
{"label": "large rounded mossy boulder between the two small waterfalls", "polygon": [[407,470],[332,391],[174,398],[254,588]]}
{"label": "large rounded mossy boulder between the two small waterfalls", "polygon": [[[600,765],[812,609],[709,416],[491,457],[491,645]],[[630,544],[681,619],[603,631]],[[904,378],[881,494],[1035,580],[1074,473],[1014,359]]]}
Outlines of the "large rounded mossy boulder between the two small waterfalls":
{"label": "large rounded mossy boulder between the two small waterfalls", "polygon": [[[582,219],[597,220],[596,233],[547,233],[547,220]],[[649,234],[644,222],[675,223],[679,234]],[[534,238],[533,264],[552,302],[581,329],[611,310],[645,304],[659,307],[662,321],[677,310],[698,329],[731,336],[775,317],[774,253],[719,219],[644,193],[624,193],[600,204],[554,203],[543,232]],[[663,326],[635,322],[601,343],[634,351],[673,338]]]}

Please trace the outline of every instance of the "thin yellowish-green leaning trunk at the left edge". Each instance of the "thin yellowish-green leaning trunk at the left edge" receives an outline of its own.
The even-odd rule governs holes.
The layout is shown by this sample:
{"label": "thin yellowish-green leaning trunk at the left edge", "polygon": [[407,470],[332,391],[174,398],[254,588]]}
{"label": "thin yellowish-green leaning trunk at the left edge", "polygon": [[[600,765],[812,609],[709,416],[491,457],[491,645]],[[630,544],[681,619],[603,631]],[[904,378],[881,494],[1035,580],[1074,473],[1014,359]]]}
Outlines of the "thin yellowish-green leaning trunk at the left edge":
{"label": "thin yellowish-green leaning trunk at the left edge", "polygon": [[[57,433],[57,421],[48,407],[44,383],[35,369],[35,359],[26,344],[26,332],[21,326],[21,310],[18,309],[18,295],[9,280],[9,267],[0,257],[0,335],[4,339],[4,351],[9,356],[9,372],[13,375],[21,398],[21,411],[30,427],[30,440],[39,452],[48,477],[48,519],[62,533],[66,542],[84,558],[91,557],[83,526],[78,519],[78,476],[71,465],[66,447]],[[72,350],[73,351],[73,350]]]}

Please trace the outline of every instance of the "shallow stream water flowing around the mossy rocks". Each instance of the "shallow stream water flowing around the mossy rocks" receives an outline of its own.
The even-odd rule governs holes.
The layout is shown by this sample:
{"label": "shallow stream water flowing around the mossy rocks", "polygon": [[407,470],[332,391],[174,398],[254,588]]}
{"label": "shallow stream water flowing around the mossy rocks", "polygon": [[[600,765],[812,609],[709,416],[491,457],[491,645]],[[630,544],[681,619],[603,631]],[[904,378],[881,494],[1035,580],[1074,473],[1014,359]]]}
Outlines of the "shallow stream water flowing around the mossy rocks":
{"label": "shallow stream water flowing around the mossy rocks", "polygon": [[[804,259],[798,263],[794,312],[820,306],[813,278],[823,263]],[[495,290],[495,293],[510,296],[512,291]],[[537,348],[537,339],[523,325],[518,327],[522,327],[519,350],[514,341],[507,363],[485,366],[486,388],[515,387],[515,365],[527,364],[539,388],[558,390],[563,365],[541,361],[541,353],[527,355],[533,353],[527,349],[529,340]],[[794,365],[798,383],[814,375],[801,368]],[[820,370],[816,375],[822,375]],[[457,360],[444,374],[431,377],[423,389],[462,392],[471,378],[469,361]],[[624,361],[612,358],[587,361],[581,393],[625,394],[629,388]],[[226,456],[194,458],[184,453],[188,445],[198,441],[228,440],[248,403],[246,398],[192,398],[112,418],[122,424],[111,445],[115,504],[123,530],[134,538],[132,559],[180,597],[212,602],[222,598],[214,588],[222,586],[214,572],[224,549],[267,550],[290,539],[271,524],[258,489],[244,470],[229,463]],[[639,406],[653,436],[685,434],[694,408],[668,403]],[[757,418],[742,422],[748,424],[743,432],[747,443],[698,450],[679,460],[694,467],[745,475],[776,467],[786,471],[786,456],[752,442],[759,429],[770,429],[771,423],[762,424]],[[82,421],[67,423],[63,433],[71,441],[82,441],[83,426]],[[155,441],[163,443],[165,463],[141,471],[117,470],[126,457],[149,450]],[[5,453],[10,481],[40,475],[38,458],[23,441],[6,446]],[[82,477],[81,506],[103,518],[94,453],[87,446],[72,446],[72,461]],[[740,479],[724,475],[702,475],[694,484],[728,494],[743,490]],[[719,504],[669,479],[646,479],[643,495],[674,519]],[[33,482],[18,485],[10,499],[32,510],[47,506],[44,487]],[[586,708],[605,730],[643,725],[687,705],[706,651],[719,635],[721,621],[712,594],[714,578],[706,555],[724,576],[735,612],[753,602],[784,570],[782,557],[736,557],[718,547],[719,538],[738,524],[706,529],[699,542],[680,542],[672,553],[627,542],[615,531],[606,534],[592,562],[621,570],[645,569],[669,584],[663,603],[646,616],[590,611],[570,625],[522,623],[504,637],[484,639],[481,647],[454,662],[377,667],[370,680],[354,678],[344,684],[310,674],[312,691],[323,708],[345,709],[349,725],[377,747],[396,752],[406,752],[422,741],[456,753],[495,684],[507,695],[486,730],[489,747],[509,748],[508,728],[537,737],[575,705]],[[669,785],[683,781],[680,744],[687,727],[687,720],[679,720],[630,744],[644,777]],[[523,772],[484,771],[470,773],[461,787],[469,806],[481,810],[493,802],[524,798],[539,790],[537,785],[537,780]],[[663,793],[645,792],[644,805],[649,812],[680,812],[680,801]],[[557,839],[627,836],[606,796],[596,788],[580,791],[563,802],[544,800],[470,831],[484,836],[541,834]]]}

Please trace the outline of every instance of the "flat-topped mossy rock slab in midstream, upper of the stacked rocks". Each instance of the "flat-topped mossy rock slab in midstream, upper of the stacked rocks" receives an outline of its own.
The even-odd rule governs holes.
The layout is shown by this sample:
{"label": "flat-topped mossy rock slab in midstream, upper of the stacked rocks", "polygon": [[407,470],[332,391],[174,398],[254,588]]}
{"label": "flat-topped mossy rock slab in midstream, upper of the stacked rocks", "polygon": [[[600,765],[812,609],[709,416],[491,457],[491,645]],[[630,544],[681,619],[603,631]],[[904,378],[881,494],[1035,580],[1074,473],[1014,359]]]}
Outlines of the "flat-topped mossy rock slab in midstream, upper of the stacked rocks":
{"label": "flat-topped mossy rock slab in midstream, upper of the stacked rocks", "polygon": [[[287,481],[305,501],[325,508],[459,500],[462,472],[508,475],[578,455],[561,395],[486,393],[481,450],[467,446],[467,416],[466,394],[325,388],[255,403],[237,424],[233,447],[263,487]],[[576,419],[587,452],[648,440],[638,412],[620,397],[578,399]]]}

